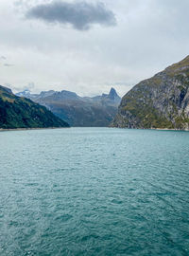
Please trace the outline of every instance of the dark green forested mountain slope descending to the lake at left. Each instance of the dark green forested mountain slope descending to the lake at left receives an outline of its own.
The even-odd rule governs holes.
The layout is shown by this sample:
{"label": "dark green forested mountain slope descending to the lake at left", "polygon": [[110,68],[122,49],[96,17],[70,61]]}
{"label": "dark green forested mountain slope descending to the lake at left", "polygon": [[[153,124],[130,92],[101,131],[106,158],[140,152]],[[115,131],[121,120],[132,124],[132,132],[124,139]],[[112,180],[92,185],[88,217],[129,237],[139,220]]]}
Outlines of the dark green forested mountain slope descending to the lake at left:
{"label": "dark green forested mountain slope descending to the lake at left", "polygon": [[9,88],[0,85],[1,129],[47,127],[69,127],[69,125],[44,106],[15,96]]}

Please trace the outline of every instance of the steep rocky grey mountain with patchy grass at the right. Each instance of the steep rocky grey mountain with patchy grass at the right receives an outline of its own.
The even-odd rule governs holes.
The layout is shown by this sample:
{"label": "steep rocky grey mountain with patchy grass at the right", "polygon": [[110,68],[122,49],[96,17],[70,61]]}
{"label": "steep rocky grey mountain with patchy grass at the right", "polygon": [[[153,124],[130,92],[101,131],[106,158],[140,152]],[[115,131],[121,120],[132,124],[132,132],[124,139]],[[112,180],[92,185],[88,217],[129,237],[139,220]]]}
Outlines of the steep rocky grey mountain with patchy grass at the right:
{"label": "steep rocky grey mountain with patchy grass at the right", "polygon": [[112,126],[189,130],[189,56],[135,85]]}

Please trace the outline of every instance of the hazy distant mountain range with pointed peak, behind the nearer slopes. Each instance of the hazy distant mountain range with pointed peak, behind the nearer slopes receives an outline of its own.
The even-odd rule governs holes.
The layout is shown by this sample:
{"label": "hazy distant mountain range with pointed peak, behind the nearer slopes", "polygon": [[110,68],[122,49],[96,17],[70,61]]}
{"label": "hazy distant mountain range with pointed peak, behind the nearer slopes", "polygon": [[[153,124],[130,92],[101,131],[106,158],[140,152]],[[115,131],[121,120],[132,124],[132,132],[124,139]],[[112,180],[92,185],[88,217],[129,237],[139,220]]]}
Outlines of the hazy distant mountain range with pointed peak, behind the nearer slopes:
{"label": "hazy distant mountain range with pointed peak, behind the nearer slopes", "polygon": [[[117,113],[121,98],[115,89],[101,96],[79,97],[75,92],[42,92],[39,95],[27,94],[26,97],[51,110],[57,117],[72,126],[108,126]],[[45,93],[45,96],[42,94]],[[20,95],[21,93],[17,94]]]}

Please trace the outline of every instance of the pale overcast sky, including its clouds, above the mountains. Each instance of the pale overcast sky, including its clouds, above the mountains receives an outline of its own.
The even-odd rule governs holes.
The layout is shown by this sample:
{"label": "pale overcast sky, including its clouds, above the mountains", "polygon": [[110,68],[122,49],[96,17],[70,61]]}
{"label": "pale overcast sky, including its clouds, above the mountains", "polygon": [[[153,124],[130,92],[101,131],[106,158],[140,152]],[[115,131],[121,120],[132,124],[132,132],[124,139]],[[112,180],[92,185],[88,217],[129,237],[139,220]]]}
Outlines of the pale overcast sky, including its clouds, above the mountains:
{"label": "pale overcast sky, including its clouds, above the mountains", "polygon": [[0,84],[120,96],[189,55],[188,0],[1,0]]}

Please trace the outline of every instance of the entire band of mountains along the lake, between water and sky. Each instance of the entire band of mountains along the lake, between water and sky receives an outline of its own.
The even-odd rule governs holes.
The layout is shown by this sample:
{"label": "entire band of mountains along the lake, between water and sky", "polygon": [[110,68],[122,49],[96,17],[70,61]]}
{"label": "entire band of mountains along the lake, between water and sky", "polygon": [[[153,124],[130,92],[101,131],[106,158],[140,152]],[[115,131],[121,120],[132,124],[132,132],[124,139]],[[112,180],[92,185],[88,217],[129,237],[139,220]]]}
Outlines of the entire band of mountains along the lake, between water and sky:
{"label": "entire band of mountains along the lake, between water and sky", "polygon": [[121,99],[50,90],[16,95],[0,86],[0,128],[118,127],[189,130],[189,56],[136,84]]}

